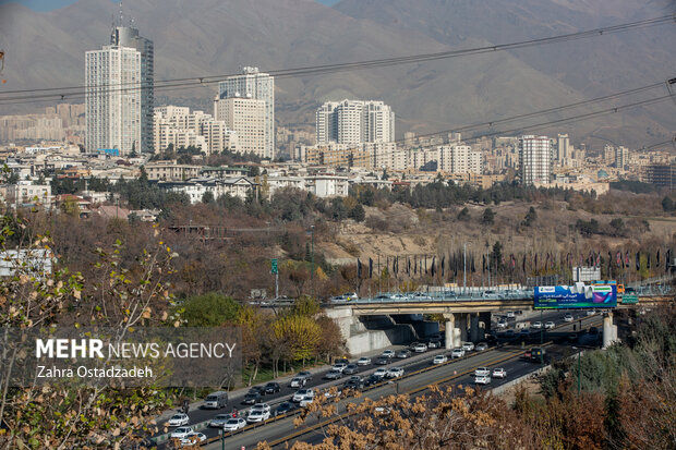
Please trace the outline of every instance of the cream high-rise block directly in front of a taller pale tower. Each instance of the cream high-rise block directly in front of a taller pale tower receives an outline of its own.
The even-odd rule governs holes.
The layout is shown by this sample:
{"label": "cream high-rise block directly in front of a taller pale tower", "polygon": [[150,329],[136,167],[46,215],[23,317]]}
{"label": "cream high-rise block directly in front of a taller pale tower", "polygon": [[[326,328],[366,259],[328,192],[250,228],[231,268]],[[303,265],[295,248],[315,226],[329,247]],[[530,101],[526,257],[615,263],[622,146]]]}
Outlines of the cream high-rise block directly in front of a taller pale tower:
{"label": "cream high-rise block directly in front of a taller pale tower", "polygon": [[265,100],[254,98],[219,98],[214,100],[214,117],[237,134],[236,151],[253,153],[268,158]]}

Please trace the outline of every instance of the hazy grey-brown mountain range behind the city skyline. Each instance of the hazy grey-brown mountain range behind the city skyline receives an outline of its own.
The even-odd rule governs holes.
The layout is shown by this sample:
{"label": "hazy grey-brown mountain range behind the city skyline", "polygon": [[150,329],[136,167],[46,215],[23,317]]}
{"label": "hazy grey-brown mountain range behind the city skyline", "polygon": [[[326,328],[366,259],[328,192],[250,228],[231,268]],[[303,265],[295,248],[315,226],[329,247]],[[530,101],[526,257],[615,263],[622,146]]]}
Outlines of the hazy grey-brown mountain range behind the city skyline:
{"label": "hazy grey-brown mountain range behind the city skyline", "polygon": [[[669,0],[136,0],[125,3],[155,42],[156,80],[262,71],[473,48],[575,33],[674,13]],[[129,11],[128,11],[129,10]],[[118,5],[80,0],[49,12],[0,5],[1,90],[81,85],[84,52],[109,38]],[[312,126],[326,100],[382,99],[397,135],[532,112],[674,77],[674,24],[589,39],[424,63],[276,81],[279,124]],[[161,93],[209,108],[215,86]],[[158,93],[159,96],[160,93]],[[548,114],[503,130],[666,94],[666,87]],[[82,100],[77,100],[82,101]],[[43,104],[0,105],[1,113]],[[673,102],[536,132],[575,143],[650,145],[676,130]],[[499,131],[484,130],[484,131]]]}

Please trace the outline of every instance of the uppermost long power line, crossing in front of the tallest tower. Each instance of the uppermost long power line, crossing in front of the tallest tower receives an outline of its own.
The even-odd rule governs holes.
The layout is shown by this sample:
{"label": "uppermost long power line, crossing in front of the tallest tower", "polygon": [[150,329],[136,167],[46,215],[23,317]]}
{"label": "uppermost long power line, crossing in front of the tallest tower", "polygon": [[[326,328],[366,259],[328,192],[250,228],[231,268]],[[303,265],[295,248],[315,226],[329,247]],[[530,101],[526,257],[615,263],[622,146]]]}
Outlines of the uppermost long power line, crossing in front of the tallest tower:
{"label": "uppermost long power line, crossing in front of the tallest tower", "polygon": [[[367,60],[367,61],[313,65],[313,66],[304,66],[304,68],[295,68],[295,69],[273,70],[273,71],[268,71],[267,73],[278,78],[285,78],[285,77],[321,75],[321,74],[326,74],[326,73],[338,73],[338,72],[353,71],[353,70],[385,68],[385,66],[415,63],[415,62],[427,62],[427,61],[435,61],[435,60],[442,60],[442,59],[458,58],[458,57],[470,56],[470,54],[482,54],[482,53],[488,53],[488,52],[495,52],[495,51],[516,50],[516,49],[546,45],[546,44],[555,44],[555,42],[564,42],[564,41],[569,41],[569,40],[583,39],[583,38],[589,38],[589,37],[602,36],[604,34],[621,33],[625,31],[633,29],[633,28],[643,28],[643,27],[663,25],[663,24],[675,22],[675,21],[676,21],[676,14],[669,14],[669,15],[663,15],[660,17],[647,19],[647,20],[637,21],[637,22],[629,22],[629,23],[619,24],[619,25],[589,29],[584,32],[570,33],[570,34],[545,37],[545,38],[538,38],[538,39],[529,39],[529,40],[517,41],[517,42],[484,46],[484,47],[476,47],[476,48],[471,48],[471,49],[449,50],[449,51],[442,51],[442,52],[434,52],[434,53],[419,53],[419,54],[407,56],[407,57],[394,57],[394,58],[385,58],[385,59]],[[200,87],[201,85],[209,85],[214,83],[219,83],[220,81],[224,81],[228,78],[229,76],[233,76],[233,75],[237,75],[237,74],[173,78],[173,80],[159,81],[159,82],[154,83],[153,85],[149,85],[149,84],[146,84],[146,85],[133,84],[132,85],[130,83],[99,85],[97,86],[97,90],[95,94],[100,95],[105,93],[114,93],[114,92],[142,90],[142,89],[148,89],[150,87],[154,87],[155,90],[186,88],[189,86]],[[125,85],[130,85],[130,86],[123,87]],[[120,87],[117,87],[117,86],[120,86]],[[70,86],[70,87],[51,87],[51,88],[39,88],[39,89],[9,90],[9,92],[0,94],[0,102],[5,101],[5,100],[43,99],[43,101],[47,101],[48,99],[64,100],[65,98],[69,98],[69,99],[82,98],[84,97],[84,93],[82,93],[82,90],[86,88],[87,86],[81,85],[81,86]],[[38,94],[38,93],[46,93],[46,94]],[[47,93],[50,93],[50,94],[47,94]],[[2,97],[2,96],[10,95],[10,94],[32,94],[32,95]]]}

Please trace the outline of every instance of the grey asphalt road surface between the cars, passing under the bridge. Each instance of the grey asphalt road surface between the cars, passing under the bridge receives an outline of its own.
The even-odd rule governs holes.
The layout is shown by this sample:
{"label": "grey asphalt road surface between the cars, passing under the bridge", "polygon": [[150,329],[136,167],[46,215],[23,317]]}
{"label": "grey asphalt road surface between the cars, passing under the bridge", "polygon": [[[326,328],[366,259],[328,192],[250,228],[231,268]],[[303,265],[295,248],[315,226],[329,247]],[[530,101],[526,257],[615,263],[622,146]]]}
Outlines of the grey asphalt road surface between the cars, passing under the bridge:
{"label": "grey asphalt road surface between the cars, passing under the bridge", "polygon": [[[555,324],[557,324],[557,326],[560,327],[554,331],[547,330],[545,335],[545,339],[551,340],[553,338],[566,338],[570,333],[572,324],[566,324],[563,320],[563,317],[566,313],[568,312],[556,311],[556,312],[545,312],[542,314],[543,321],[552,320]],[[571,312],[571,313],[576,316],[576,323],[575,323],[576,325],[579,324],[579,321],[577,320],[578,318],[582,318],[584,320],[586,327],[589,327],[591,325],[599,326],[601,324],[601,317],[599,315],[588,317],[586,316],[584,312]],[[517,316],[517,320],[519,320],[519,316]],[[531,321],[540,320],[540,315],[536,315],[534,317],[532,316],[530,320]],[[510,320],[509,328],[512,329],[515,324],[516,324],[516,320]],[[504,333],[498,331],[497,336],[500,337],[500,336],[504,336]],[[511,338],[511,341],[514,343],[518,342],[520,344],[520,342],[526,339],[528,339],[528,337],[517,335],[515,338]],[[510,379],[514,379],[514,377],[527,374],[528,370],[538,368],[538,365],[524,364],[519,361],[511,361],[516,358],[518,355],[520,355],[523,350],[519,345],[514,345],[514,344],[507,345],[505,344],[506,341],[508,341],[508,339],[507,340],[500,339],[500,342],[504,343],[504,346],[500,346],[499,349],[490,349],[481,353],[473,352],[471,353],[471,355],[467,356],[466,358],[457,360],[452,363],[449,363],[440,367],[437,366],[436,368],[432,370],[427,370],[427,372],[414,375],[412,377],[407,377],[398,382],[398,388],[400,389],[401,392],[405,392],[405,391],[408,392],[414,389],[414,387],[421,387],[421,386],[424,387],[424,386],[427,386],[428,384],[437,382],[439,379],[448,378],[449,376],[452,376],[454,373],[461,374],[464,369],[473,370],[473,367],[476,367],[476,366],[496,364],[496,362],[499,362],[505,357],[507,358],[505,361],[505,368],[507,368],[508,374],[509,374],[507,381]],[[532,331],[530,341],[531,341],[531,345],[535,345],[540,342],[539,330]],[[419,358],[418,361],[413,361],[413,358],[394,360],[394,362],[390,365],[385,366],[385,367],[400,366],[405,368],[406,374],[411,374],[411,373],[431,367],[432,358],[435,355],[442,354],[442,353],[449,353],[449,352],[444,349],[432,350],[432,351],[424,353],[422,358]],[[377,367],[382,367],[382,366],[371,365],[371,366],[362,367],[359,375],[365,377],[370,375],[371,373],[373,373]],[[319,388],[319,389],[326,389],[329,386],[342,385],[345,382],[345,379],[330,381],[330,382],[327,380],[324,380],[322,379],[324,374],[325,372],[314,375],[312,381],[307,386]],[[459,378],[458,382],[467,382],[467,379]],[[494,380],[494,386],[498,386],[499,384],[502,384],[502,380],[499,381]],[[388,393],[393,393],[397,385],[385,385],[383,387],[369,391],[367,396],[373,397],[373,398],[386,396]],[[274,410],[276,405],[279,404],[280,402],[289,400],[289,398],[295,392],[295,390],[297,390],[295,388],[290,388],[288,385],[282,385],[281,392],[271,394],[271,396],[266,396],[263,398],[263,401],[270,404]],[[215,411],[215,410],[191,411],[189,413],[190,418],[191,418],[190,425],[194,426],[196,424],[201,424],[201,423],[204,423],[205,421],[213,418],[217,414],[224,414],[224,413],[230,412],[231,406],[234,406],[240,412],[250,408],[246,405],[239,404],[240,401],[241,401],[241,397],[239,398],[233,397],[230,399],[230,404],[229,404],[230,408],[227,408],[220,411]],[[206,436],[212,439],[216,438],[219,434],[219,430],[216,428],[206,428],[206,429],[203,429],[202,431],[205,433]],[[255,445],[259,440],[271,441],[275,439],[279,439],[283,436],[289,435],[292,431],[293,431],[292,417],[283,418],[283,419],[276,421],[273,423],[257,425],[255,428],[244,429],[243,433],[239,433],[234,436],[227,437],[226,443],[228,445],[229,448],[232,448],[233,446],[234,448],[241,448],[241,446]],[[218,442],[218,446],[220,446],[220,442]],[[209,447],[209,448],[216,449],[219,447]]]}

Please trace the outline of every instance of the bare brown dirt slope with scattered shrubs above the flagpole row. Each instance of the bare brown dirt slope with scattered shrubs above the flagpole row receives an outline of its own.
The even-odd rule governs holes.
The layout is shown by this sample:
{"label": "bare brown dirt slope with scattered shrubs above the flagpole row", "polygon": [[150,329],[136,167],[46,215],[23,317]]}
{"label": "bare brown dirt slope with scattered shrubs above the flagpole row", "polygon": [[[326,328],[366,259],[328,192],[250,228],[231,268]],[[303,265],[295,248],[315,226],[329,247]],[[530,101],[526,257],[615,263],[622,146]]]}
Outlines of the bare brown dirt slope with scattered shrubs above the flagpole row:
{"label": "bare brown dirt slope with scattered shrubs above the flagpole row", "polygon": [[[569,210],[565,202],[533,205],[536,219],[527,227],[523,220],[531,205],[503,203],[490,208],[495,212],[492,224],[482,223],[486,209],[483,205],[468,205],[469,217],[459,220],[461,208],[444,211],[411,209],[393,205],[388,209],[365,208],[366,220],[352,220],[336,226],[334,242],[319,242],[317,247],[331,264],[353,264],[357,258],[374,262],[388,257],[449,254],[463,248],[483,255],[499,241],[503,254],[572,253],[584,254],[594,248],[625,250],[637,245],[665,243],[676,235],[676,217],[640,218],[615,215],[592,215]],[[609,230],[609,222],[620,218],[624,231],[586,236],[576,228],[578,220],[595,219],[602,229]],[[648,229],[643,224],[645,220]]]}

